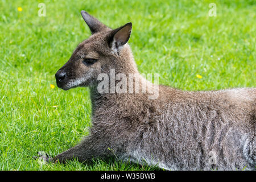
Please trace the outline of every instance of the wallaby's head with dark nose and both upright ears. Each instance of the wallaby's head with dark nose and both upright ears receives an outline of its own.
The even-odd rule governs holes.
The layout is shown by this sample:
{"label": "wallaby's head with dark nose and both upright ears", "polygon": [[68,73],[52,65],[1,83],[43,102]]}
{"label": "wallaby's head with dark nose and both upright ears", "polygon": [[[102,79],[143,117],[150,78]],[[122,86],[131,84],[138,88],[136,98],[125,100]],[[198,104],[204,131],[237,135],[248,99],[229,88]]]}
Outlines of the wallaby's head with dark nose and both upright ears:
{"label": "wallaby's head with dark nose and both upright ears", "polygon": [[92,35],[73,51],[71,58],[57,71],[55,77],[59,88],[68,90],[77,86],[97,84],[100,73],[122,67],[122,62],[132,57],[126,44],[131,34],[131,23],[112,30],[98,19],[81,11]]}

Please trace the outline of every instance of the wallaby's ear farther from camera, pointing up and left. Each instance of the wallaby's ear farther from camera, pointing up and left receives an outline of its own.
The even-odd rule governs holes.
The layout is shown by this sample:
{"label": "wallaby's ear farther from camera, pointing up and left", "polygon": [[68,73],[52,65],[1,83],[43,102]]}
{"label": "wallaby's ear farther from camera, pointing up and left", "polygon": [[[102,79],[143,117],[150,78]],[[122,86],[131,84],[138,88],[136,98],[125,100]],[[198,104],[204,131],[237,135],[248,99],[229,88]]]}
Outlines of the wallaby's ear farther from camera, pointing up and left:
{"label": "wallaby's ear farther from camera, pointing up and left", "polygon": [[101,23],[98,19],[94,18],[92,15],[89,15],[86,11],[81,11],[82,18],[84,18],[85,23],[88,24],[88,27],[90,28],[90,32],[92,34],[103,30],[106,28],[105,24]]}

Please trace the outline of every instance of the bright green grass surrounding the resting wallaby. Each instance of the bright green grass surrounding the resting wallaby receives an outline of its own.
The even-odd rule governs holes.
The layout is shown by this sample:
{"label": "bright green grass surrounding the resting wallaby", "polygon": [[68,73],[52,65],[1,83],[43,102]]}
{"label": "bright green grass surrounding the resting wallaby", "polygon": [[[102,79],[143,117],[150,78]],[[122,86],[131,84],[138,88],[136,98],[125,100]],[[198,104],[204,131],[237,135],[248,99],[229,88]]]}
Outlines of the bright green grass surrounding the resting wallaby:
{"label": "bright green grass surrounding the resting wallaby", "polygon": [[[56,71],[90,35],[81,10],[113,28],[132,22],[129,43],[138,69],[159,73],[160,84],[256,86],[253,0],[43,1],[46,17],[38,16],[40,2],[0,0],[0,170],[156,169],[117,160],[40,165],[31,158],[41,150],[54,156],[88,135],[88,88],[64,92],[55,82]],[[212,2],[216,17],[208,16]]]}

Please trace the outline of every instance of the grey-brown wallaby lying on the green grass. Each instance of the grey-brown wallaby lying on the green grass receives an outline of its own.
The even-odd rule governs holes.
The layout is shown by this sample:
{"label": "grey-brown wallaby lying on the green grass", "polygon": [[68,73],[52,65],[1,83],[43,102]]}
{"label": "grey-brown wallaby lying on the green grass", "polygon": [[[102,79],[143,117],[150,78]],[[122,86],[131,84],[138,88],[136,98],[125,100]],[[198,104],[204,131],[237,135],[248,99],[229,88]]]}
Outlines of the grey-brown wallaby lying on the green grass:
{"label": "grey-brown wallaby lying on the green grass", "polygon": [[[55,76],[64,90],[89,87],[93,125],[80,144],[46,160],[90,162],[114,156],[168,170],[255,170],[256,88],[188,92],[153,84],[139,75],[127,44],[131,23],[112,30],[81,14],[92,35]],[[98,92],[98,75],[110,76],[112,70],[127,79],[135,74],[139,85],[150,89]],[[109,88],[116,85],[114,80]],[[157,90],[158,97],[150,99],[150,90]]]}

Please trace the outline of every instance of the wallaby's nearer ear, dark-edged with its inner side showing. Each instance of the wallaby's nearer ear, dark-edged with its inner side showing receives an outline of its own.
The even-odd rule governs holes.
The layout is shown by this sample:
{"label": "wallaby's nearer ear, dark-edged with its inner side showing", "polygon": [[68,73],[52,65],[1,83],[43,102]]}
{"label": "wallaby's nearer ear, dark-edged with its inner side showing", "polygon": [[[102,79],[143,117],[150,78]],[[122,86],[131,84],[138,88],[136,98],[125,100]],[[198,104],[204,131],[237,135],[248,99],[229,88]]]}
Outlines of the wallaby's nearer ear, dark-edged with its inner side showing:
{"label": "wallaby's nearer ear, dark-edged with its inner side showing", "polygon": [[131,22],[126,23],[124,26],[113,30],[109,38],[109,46],[113,51],[118,52],[123,45],[125,45],[131,35]]}

